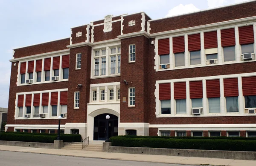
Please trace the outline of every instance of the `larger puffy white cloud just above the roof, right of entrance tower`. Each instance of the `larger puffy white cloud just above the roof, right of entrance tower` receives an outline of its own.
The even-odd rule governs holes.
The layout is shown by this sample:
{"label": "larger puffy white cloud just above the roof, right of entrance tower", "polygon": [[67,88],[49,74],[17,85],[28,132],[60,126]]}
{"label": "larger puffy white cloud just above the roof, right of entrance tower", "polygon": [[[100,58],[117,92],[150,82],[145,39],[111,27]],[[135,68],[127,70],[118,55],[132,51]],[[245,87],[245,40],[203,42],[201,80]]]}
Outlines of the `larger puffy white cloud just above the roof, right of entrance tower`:
{"label": "larger puffy white cloud just above the roof, right of entrance tower", "polygon": [[199,11],[199,10],[200,9],[195,7],[192,3],[187,4],[187,5],[180,4],[179,6],[175,6],[174,8],[169,10],[166,17],[178,15],[178,14],[190,13],[190,12]]}

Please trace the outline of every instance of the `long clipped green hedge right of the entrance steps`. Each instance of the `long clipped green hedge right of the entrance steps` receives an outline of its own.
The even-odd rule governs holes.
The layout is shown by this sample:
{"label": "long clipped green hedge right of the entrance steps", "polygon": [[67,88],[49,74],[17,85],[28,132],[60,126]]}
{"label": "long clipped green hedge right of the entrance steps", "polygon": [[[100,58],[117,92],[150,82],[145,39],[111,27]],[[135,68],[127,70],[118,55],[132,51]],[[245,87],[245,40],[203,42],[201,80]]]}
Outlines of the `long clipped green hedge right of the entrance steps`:
{"label": "long clipped green hedge right of the entrance steps", "polygon": [[114,136],[110,138],[112,146],[150,147],[168,149],[204,149],[229,151],[256,151],[256,140],[235,139],[186,139],[173,137],[125,137]]}

